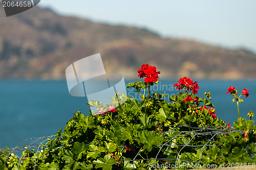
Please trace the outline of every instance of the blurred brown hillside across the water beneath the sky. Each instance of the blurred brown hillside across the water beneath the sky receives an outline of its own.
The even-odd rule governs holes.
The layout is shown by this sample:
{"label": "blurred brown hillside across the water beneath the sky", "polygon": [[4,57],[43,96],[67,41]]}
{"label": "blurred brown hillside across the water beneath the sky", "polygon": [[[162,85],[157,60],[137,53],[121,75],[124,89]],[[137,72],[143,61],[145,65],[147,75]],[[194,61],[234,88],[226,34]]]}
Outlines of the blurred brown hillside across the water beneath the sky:
{"label": "blurred brown hillside across the water beneath the sky", "polygon": [[73,62],[100,53],[106,72],[137,77],[144,63],[161,78],[256,78],[256,55],[197,41],[162,38],[147,29],[113,26],[32,8],[4,17],[0,7],[0,78],[65,79]]}

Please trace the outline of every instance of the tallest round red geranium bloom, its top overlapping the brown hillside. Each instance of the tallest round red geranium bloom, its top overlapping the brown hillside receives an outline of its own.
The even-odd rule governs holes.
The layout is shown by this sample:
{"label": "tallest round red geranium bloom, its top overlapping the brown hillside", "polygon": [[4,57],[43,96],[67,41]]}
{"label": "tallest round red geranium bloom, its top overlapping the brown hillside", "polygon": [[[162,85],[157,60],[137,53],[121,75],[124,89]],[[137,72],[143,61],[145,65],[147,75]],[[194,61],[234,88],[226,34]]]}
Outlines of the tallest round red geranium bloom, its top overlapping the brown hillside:
{"label": "tallest round red geranium bloom, its top overlapping the brown hillside", "polygon": [[144,78],[146,83],[156,82],[159,79],[160,71],[156,71],[157,68],[155,66],[151,66],[148,64],[143,64],[140,69],[137,70],[138,77]]}

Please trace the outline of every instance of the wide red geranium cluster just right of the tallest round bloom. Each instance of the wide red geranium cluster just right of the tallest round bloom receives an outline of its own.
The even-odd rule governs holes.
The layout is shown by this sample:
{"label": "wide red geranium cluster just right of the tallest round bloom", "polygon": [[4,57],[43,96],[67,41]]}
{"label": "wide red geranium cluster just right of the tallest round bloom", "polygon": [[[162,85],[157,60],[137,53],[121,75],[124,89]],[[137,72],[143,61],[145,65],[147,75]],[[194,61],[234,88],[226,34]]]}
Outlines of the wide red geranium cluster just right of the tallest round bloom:
{"label": "wide red geranium cluster just right of the tallest round bloom", "polygon": [[187,77],[180,78],[178,81],[179,83],[174,84],[174,87],[176,87],[176,90],[182,90],[184,88],[185,91],[191,91],[195,94],[198,92],[199,86],[197,84],[197,81],[193,83],[192,79],[189,79]]}

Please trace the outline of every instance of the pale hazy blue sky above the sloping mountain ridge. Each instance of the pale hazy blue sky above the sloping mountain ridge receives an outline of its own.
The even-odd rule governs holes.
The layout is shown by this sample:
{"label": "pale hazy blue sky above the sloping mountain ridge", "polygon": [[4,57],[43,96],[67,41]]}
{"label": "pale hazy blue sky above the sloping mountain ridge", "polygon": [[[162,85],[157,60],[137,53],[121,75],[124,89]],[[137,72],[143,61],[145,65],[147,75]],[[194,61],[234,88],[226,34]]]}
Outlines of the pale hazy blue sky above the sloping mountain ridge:
{"label": "pale hazy blue sky above the sloping mountain ridge", "polygon": [[148,28],[164,37],[256,52],[254,0],[41,0],[39,6],[59,14]]}

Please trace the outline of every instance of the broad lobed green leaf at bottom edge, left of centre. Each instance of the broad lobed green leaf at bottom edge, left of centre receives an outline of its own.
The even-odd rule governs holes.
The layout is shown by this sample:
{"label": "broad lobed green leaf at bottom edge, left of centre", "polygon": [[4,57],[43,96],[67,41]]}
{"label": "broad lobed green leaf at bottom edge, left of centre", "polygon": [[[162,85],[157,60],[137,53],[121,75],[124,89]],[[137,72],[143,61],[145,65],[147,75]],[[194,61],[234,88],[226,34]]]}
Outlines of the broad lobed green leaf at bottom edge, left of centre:
{"label": "broad lobed green leaf at bottom edge, left of centre", "polygon": [[104,159],[99,158],[97,161],[93,161],[94,164],[96,164],[95,168],[102,167],[103,170],[111,170],[112,165],[117,163],[114,158],[111,158],[110,154],[105,155]]}

